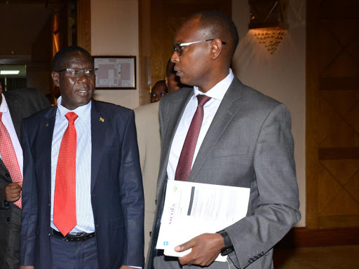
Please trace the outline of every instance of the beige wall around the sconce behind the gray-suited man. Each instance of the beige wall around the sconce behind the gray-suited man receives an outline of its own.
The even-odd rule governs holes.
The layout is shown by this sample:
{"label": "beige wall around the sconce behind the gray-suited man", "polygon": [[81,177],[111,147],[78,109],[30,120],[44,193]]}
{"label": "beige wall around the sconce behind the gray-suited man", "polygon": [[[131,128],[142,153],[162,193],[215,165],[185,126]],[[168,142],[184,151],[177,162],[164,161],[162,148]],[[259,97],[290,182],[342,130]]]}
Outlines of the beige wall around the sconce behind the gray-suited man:
{"label": "beige wall around the sconce behind the gray-suited man", "polygon": [[297,226],[305,226],[305,1],[291,0],[289,3],[287,17],[290,28],[271,55],[248,32],[248,1],[232,0],[232,18],[240,36],[233,59],[233,71],[243,83],[283,102],[292,113],[294,156],[302,212],[302,220]]}

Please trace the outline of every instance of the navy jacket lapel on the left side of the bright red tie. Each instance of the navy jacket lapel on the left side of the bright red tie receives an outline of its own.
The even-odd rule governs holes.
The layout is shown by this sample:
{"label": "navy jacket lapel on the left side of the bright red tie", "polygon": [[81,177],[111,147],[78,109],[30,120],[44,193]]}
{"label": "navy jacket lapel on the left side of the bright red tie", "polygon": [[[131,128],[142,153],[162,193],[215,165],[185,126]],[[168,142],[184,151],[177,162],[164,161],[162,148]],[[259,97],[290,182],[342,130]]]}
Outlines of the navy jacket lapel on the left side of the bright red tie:
{"label": "navy jacket lapel on the left side of the bright red tie", "polygon": [[45,114],[44,122],[41,122],[39,125],[39,134],[41,134],[41,147],[43,147],[43,155],[39,160],[41,160],[41,165],[43,168],[44,179],[48,180],[48,196],[51,198],[51,149],[53,146],[53,129],[55,127],[55,118],[56,118],[57,106],[51,107],[48,112]]}

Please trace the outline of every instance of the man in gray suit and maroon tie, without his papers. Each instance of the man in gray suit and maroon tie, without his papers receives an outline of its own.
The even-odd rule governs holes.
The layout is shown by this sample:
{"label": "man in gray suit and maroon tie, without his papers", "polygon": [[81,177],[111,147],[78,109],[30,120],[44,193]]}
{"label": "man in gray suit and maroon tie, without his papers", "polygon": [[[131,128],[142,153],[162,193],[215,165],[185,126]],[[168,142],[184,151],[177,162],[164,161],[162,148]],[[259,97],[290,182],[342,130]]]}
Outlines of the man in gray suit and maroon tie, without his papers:
{"label": "man in gray suit and maroon tie, without his papers", "polygon": [[[175,34],[171,60],[181,82],[194,88],[160,102],[161,166],[147,268],[273,268],[273,246],[300,219],[290,112],[233,75],[237,45],[236,26],[218,11],[197,13]],[[168,180],[250,188],[247,216],[175,247],[191,249],[182,258],[163,256],[155,246]],[[229,255],[227,263],[214,262],[219,254]]]}

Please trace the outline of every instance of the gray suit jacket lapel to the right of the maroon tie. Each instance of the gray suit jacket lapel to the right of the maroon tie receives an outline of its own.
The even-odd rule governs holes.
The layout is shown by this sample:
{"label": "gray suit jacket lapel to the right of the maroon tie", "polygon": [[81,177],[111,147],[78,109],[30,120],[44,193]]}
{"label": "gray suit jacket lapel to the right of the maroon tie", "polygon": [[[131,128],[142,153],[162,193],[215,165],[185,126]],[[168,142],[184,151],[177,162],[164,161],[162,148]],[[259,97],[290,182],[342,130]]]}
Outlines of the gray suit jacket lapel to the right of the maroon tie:
{"label": "gray suit jacket lapel to the right of the maroon tie", "polygon": [[201,148],[198,151],[191,173],[189,174],[188,181],[194,181],[194,179],[196,179],[198,171],[212,151],[213,146],[215,146],[219,137],[221,137],[227,125],[229,125],[233,116],[236,114],[236,111],[240,108],[241,88],[242,83],[238,81],[238,78],[234,77],[203,139]]}

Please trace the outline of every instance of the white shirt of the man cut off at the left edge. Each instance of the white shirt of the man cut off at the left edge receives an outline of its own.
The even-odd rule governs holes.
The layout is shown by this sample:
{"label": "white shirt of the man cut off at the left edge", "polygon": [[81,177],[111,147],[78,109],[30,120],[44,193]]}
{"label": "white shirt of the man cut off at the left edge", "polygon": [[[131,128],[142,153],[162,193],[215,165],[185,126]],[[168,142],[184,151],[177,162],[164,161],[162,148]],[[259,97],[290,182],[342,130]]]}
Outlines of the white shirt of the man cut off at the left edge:
{"label": "white shirt of the man cut off at the left edge", "polygon": [[[18,164],[20,167],[20,172],[22,177],[24,177],[24,174],[22,174],[22,166],[24,163],[23,157],[22,157],[22,148],[21,144],[18,138],[18,135],[16,135],[15,127],[13,125],[13,120],[11,119],[10,111],[8,110],[8,103],[6,103],[5,96],[1,94],[3,97],[3,101],[0,104],[0,112],[3,113],[2,116],[2,122],[4,123],[6,130],[8,130],[8,134],[10,135],[11,142],[13,142],[13,147],[15,149],[16,158],[18,159]],[[0,153],[1,158],[1,153]]]}

